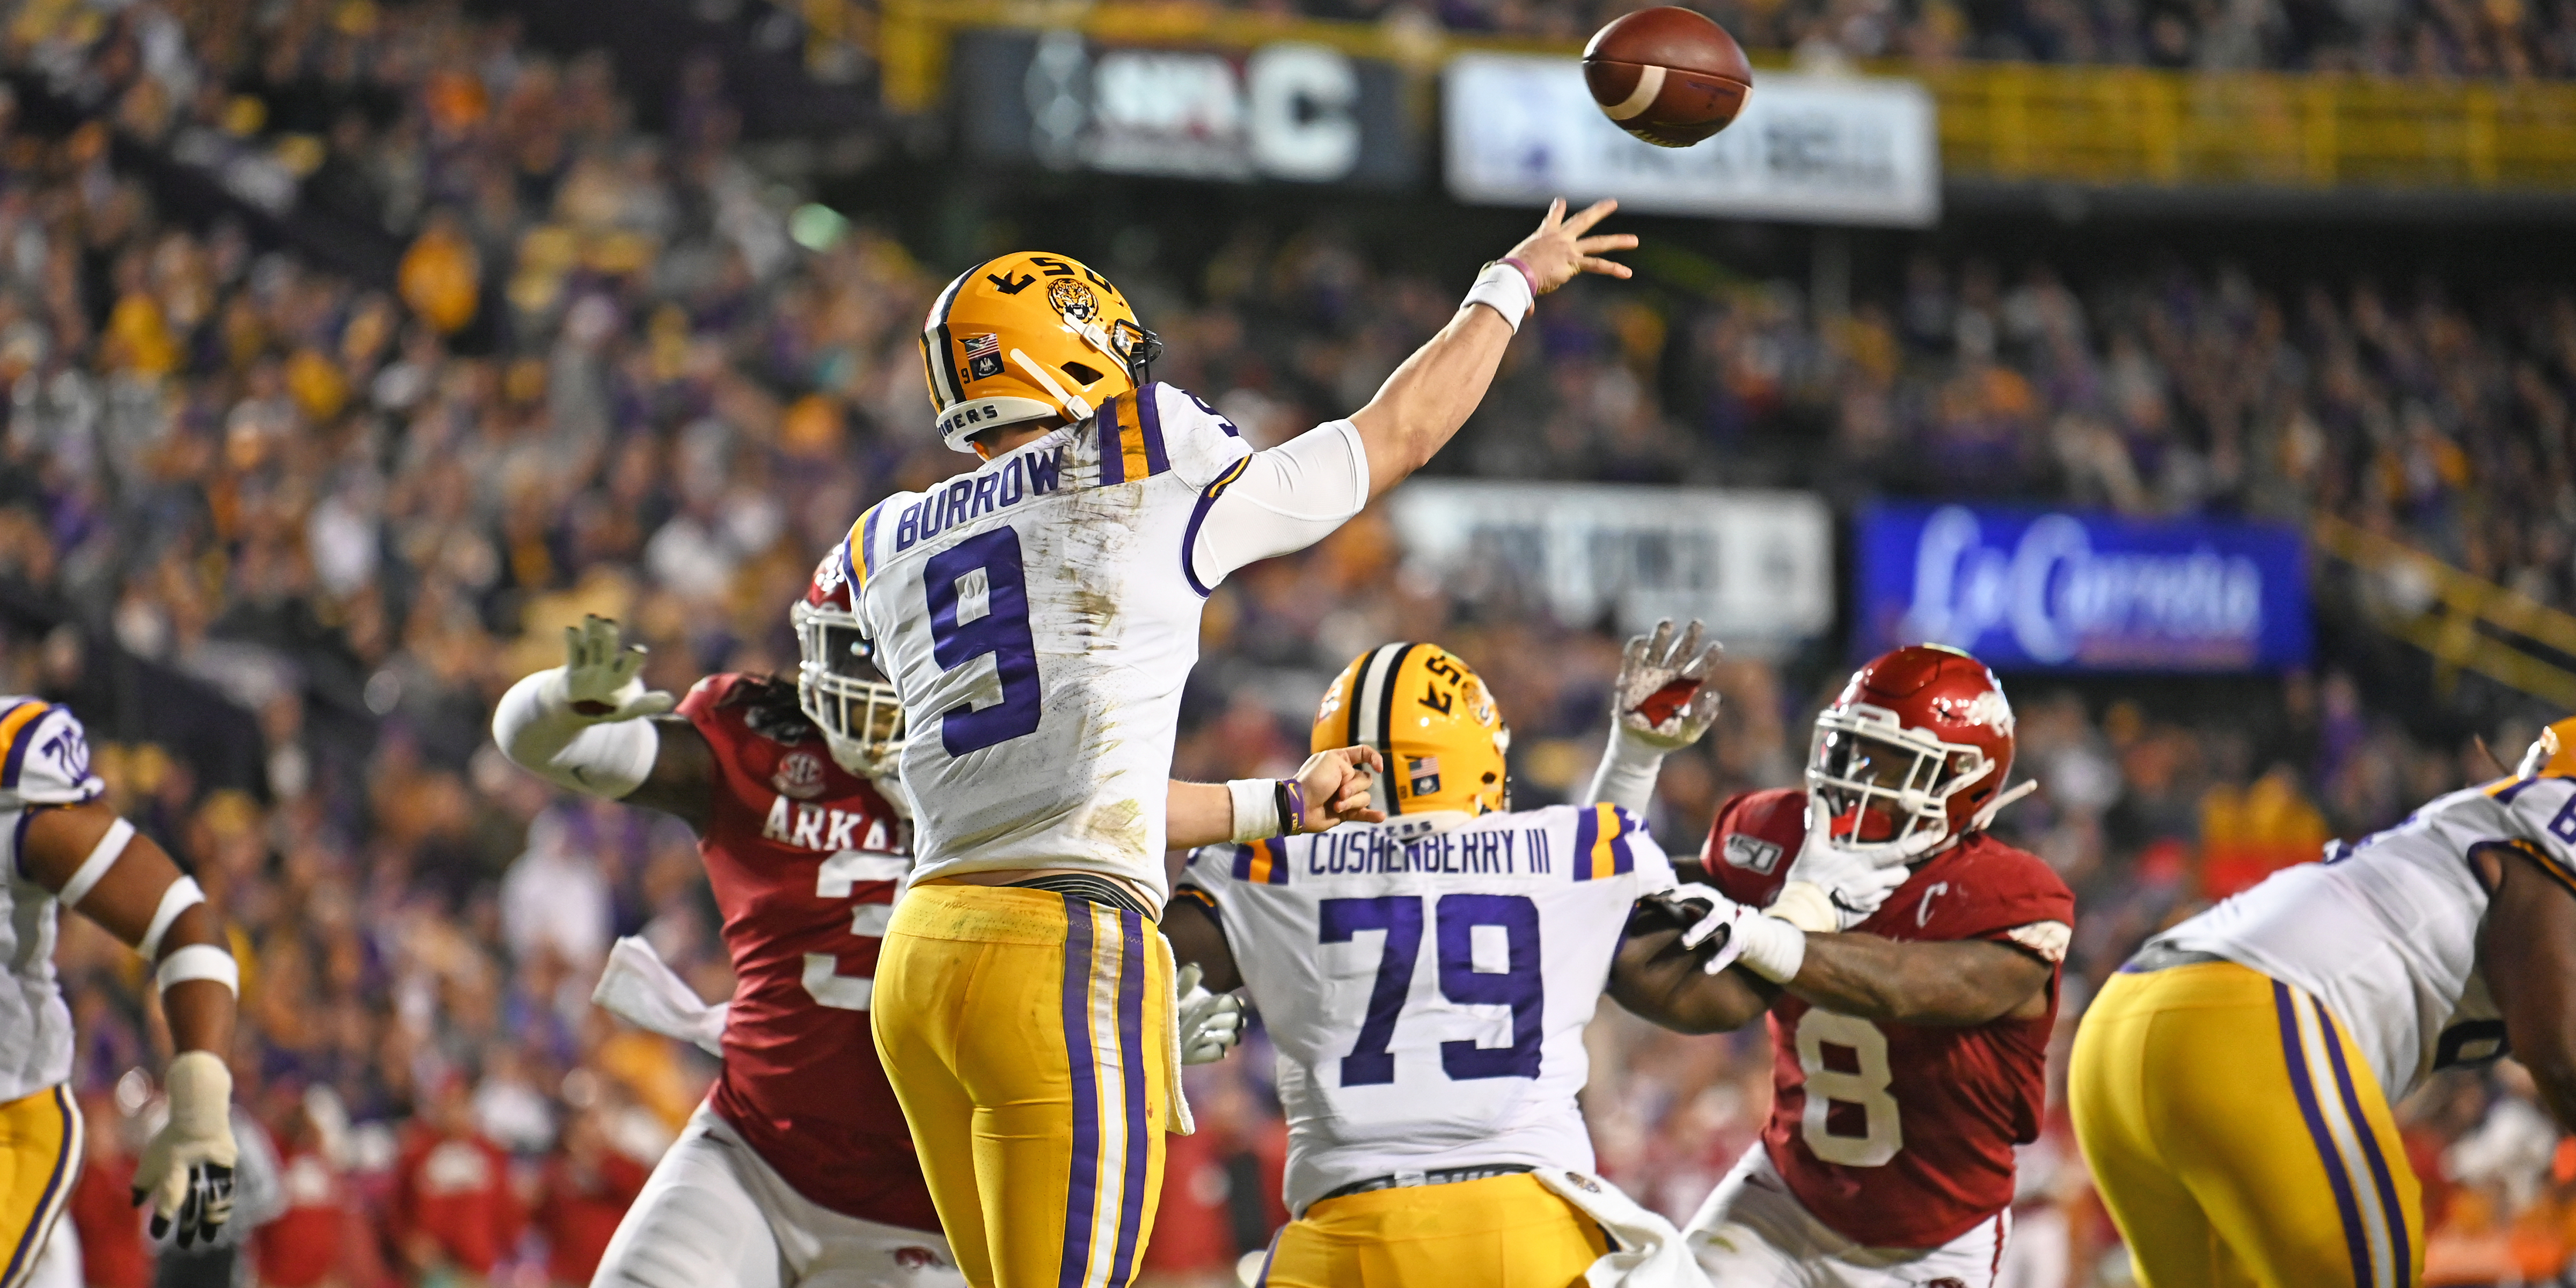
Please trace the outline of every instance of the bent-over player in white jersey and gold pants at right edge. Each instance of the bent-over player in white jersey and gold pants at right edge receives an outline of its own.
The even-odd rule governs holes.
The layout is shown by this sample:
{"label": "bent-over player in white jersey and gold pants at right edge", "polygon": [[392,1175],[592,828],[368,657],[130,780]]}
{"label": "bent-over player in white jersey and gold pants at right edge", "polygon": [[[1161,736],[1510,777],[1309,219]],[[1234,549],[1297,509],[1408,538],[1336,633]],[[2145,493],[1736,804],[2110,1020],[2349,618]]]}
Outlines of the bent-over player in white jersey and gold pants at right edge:
{"label": "bent-over player in white jersey and gold pants at right edge", "polygon": [[2512,778],[2148,940],[2084,1015],[2069,1082],[2138,1280],[2414,1283],[2421,1190],[2391,1105],[2512,1048],[2576,1126],[2571,981],[2576,721]]}

